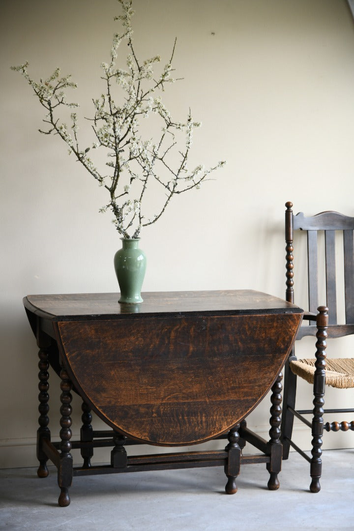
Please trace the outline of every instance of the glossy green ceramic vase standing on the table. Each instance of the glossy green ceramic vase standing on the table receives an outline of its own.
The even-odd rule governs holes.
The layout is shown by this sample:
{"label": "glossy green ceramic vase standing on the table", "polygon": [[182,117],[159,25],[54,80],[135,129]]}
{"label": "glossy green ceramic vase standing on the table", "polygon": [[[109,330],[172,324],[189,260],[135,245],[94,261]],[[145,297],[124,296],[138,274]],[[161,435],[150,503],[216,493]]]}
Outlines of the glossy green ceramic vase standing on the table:
{"label": "glossy green ceramic vase standing on the table", "polygon": [[140,238],[120,238],[122,249],[114,256],[114,268],[120,288],[118,302],[140,303],[141,287],[146,270],[145,253],[139,249]]}

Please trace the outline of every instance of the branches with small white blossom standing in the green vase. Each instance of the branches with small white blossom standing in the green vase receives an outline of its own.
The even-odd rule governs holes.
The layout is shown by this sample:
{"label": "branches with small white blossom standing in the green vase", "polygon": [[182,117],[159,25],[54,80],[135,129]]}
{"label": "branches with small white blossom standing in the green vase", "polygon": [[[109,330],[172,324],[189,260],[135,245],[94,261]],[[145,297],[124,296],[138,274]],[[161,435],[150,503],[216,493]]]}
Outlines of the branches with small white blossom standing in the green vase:
{"label": "branches with small white blossom standing in the green vase", "polygon": [[[28,81],[45,109],[46,130],[40,131],[57,134],[64,140],[68,152],[81,162],[100,186],[105,187],[109,193],[109,203],[99,211],[111,210],[117,231],[129,238],[138,237],[142,227],[157,221],[172,196],[199,189],[205,177],[225,165],[225,161],[219,161],[216,166],[207,169],[199,164],[192,171],[188,170],[193,132],[201,126],[201,122],[194,121],[190,111],[185,122],[172,119],[160,96],[166,83],[176,81],[171,75],[175,46],[162,68],[159,65],[160,55],[140,61],[134,52],[132,40],[132,0],[118,2],[122,14],[115,20],[120,23],[120,30],[114,33],[108,62],[101,63],[105,88],[101,95],[92,100],[93,116],[88,117],[88,122],[80,122],[80,125],[88,123],[92,134],[96,136],[90,141],[94,151],[90,152],[90,147],[83,148],[80,144],[81,131],[76,112],[78,105],[67,98],[68,89],[77,87],[71,75],[62,76],[60,68],[55,68],[44,81],[34,81],[28,73],[28,62],[12,68]],[[115,61],[123,40],[128,44],[129,53],[126,64],[121,68],[116,66]],[[58,118],[58,107],[63,110],[66,107],[74,109],[67,113],[70,125],[65,123],[65,118],[62,119],[62,114]],[[154,115],[153,124],[160,121],[157,134],[150,127],[141,128],[142,118],[149,118],[151,114]],[[148,131],[148,136],[144,137],[141,131]],[[98,157],[98,148],[106,153],[106,162]],[[89,157],[91,153],[99,166]],[[145,192],[150,183],[157,186],[157,194],[160,190],[162,202],[158,213],[148,218],[144,216],[144,208]]]}

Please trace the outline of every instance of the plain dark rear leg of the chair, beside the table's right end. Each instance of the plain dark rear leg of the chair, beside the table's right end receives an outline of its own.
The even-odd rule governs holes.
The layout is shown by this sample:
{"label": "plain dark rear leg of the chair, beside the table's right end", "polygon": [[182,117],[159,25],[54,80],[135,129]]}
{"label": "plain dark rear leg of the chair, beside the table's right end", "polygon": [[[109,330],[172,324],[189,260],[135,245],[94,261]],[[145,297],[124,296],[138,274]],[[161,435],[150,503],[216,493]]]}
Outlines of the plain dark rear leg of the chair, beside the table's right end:
{"label": "plain dark rear leg of the chair, beside the table's right end", "polygon": [[[292,352],[293,354],[293,352]],[[292,357],[292,354],[290,357]],[[288,459],[290,451],[290,440],[292,436],[292,427],[294,422],[293,413],[289,410],[288,406],[295,409],[296,400],[296,383],[297,376],[290,370],[289,361],[290,357],[284,366],[284,391],[283,391],[283,409],[281,415],[281,436],[280,441],[283,445],[283,459]]]}

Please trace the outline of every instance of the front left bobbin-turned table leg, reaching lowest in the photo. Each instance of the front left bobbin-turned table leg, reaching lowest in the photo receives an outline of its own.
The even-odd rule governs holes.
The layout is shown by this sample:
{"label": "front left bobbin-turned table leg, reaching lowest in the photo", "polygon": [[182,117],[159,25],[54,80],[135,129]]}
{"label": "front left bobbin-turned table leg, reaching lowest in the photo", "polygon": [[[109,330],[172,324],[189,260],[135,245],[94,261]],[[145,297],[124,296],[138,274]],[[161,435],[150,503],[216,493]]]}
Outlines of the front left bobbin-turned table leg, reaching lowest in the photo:
{"label": "front left bobbin-turned table leg, reaching lowest in the photo", "polygon": [[72,389],[72,383],[69,379],[69,376],[62,367],[61,370],[61,402],[62,406],[60,409],[60,412],[62,414],[62,418],[60,420],[60,424],[62,426],[62,429],[60,431],[60,461],[58,466],[58,485],[61,488],[61,494],[59,495],[58,503],[61,507],[67,507],[70,504],[70,496],[68,493],[68,489],[71,486],[72,478],[73,478],[73,458],[70,453],[71,451],[71,413],[72,413],[72,407],[71,407],[71,401],[72,401],[72,395],[71,395],[71,389]]}

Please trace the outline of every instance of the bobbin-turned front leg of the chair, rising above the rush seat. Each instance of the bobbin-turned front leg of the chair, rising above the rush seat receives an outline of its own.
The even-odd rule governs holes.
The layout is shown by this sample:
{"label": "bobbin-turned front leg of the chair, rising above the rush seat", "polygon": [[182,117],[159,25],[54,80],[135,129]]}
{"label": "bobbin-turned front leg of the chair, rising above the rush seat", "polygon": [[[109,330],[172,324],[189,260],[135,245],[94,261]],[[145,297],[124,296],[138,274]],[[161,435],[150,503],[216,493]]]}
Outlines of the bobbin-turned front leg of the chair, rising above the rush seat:
{"label": "bobbin-turned front leg of the chair, rising above the rush seat", "polygon": [[326,306],[318,307],[318,315],[316,320],[317,325],[317,341],[316,341],[316,362],[314,375],[314,409],[312,420],[312,459],[310,463],[310,476],[312,478],[310,484],[311,492],[320,492],[320,478],[322,474],[322,435],[323,435],[323,406],[324,406],[324,392],[325,392],[325,367],[326,367],[326,338],[327,338],[327,324],[328,324],[328,308]]}

